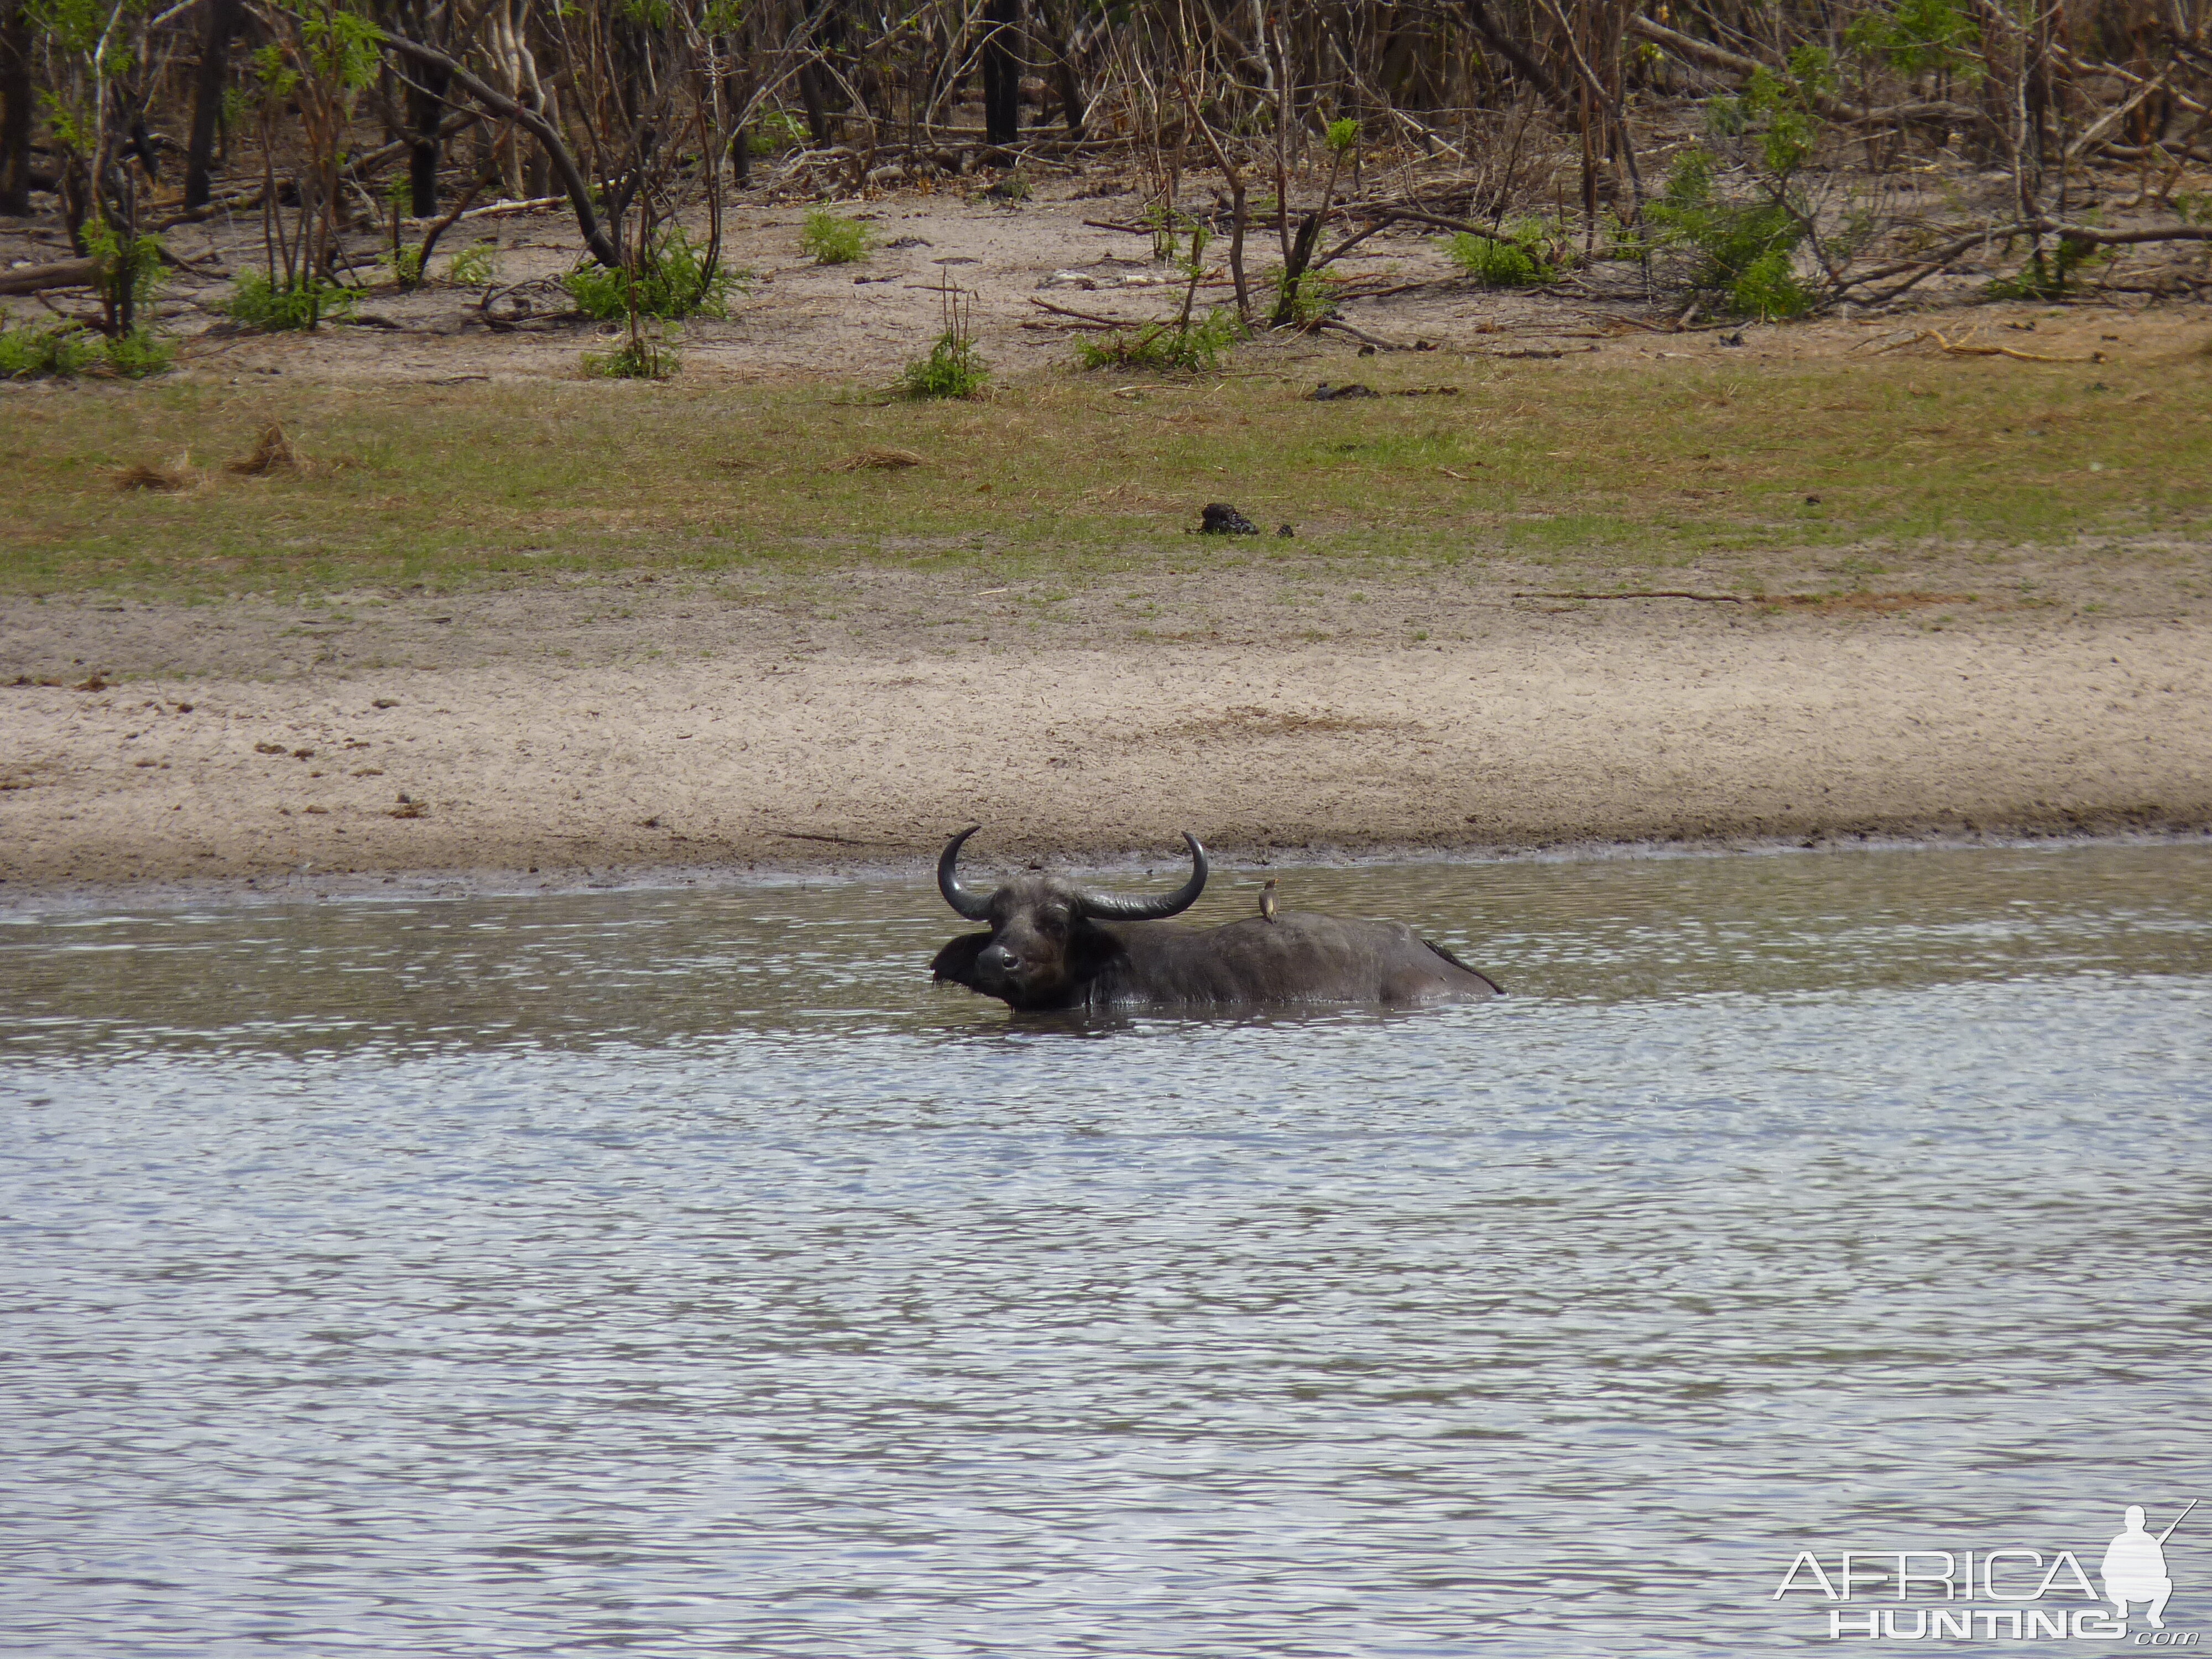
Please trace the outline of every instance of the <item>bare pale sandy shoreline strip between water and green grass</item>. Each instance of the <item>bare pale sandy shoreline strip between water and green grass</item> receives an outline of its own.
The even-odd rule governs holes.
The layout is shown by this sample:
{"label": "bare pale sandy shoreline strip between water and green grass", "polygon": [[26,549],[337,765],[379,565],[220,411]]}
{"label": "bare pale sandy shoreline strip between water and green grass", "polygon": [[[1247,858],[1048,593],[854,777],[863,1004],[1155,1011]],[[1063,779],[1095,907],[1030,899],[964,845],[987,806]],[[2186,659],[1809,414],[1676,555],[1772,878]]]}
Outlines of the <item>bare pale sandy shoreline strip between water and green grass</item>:
{"label": "bare pale sandy shoreline strip between water and green grass", "polygon": [[122,679],[0,686],[0,894],[905,872],[975,821],[987,860],[1166,860],[1190,827],[1232,863],[2212,825],[2194,606],[1933,626],[1409,591],[1321,644],[436,606],[338,646],[252,606],[7,604],[0,679]]}

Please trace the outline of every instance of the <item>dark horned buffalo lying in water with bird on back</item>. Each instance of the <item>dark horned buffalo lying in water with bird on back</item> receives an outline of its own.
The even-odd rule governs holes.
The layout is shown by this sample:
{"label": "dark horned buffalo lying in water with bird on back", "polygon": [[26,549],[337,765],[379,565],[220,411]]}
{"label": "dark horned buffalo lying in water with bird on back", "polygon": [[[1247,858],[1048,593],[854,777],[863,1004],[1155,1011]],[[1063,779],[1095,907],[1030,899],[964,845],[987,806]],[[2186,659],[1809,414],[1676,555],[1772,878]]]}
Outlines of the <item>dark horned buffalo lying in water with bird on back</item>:
{"label": "dark horned buffalo lying in water with bird on back", "polygon": [[931,978],[1020,1011],[1126,1006],[1265,1006],[1285,1002],[1464,1002],[1498,987],[1402,922],[1349,922],[1276,911],[1228,927],[1164,927],[1206,891],[1206,847],[1188,830],[1190,880],[1166,898],[1117,898],[1055,876],[1022,876],[995,894],[960,885],[960,845],[938,858],[938,891],[989,933],[962,933]]}

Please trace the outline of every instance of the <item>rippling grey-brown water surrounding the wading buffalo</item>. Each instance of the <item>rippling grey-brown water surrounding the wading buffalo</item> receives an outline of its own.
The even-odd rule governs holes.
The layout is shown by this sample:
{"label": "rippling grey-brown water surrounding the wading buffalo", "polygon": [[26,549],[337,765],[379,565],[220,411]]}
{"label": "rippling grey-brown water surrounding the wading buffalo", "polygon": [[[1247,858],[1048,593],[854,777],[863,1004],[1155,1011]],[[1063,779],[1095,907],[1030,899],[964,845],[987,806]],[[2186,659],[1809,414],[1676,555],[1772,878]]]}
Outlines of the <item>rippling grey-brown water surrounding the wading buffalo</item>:
{"label": "rippling grey-brown water surrounding the wading buffalo", "polygon": [[0,918],[0,1639],[1776,1652],[1798,1551],[2212,1495],[2212,849],[1283,885],[1513,995],[1011,1022],[918,885]]}

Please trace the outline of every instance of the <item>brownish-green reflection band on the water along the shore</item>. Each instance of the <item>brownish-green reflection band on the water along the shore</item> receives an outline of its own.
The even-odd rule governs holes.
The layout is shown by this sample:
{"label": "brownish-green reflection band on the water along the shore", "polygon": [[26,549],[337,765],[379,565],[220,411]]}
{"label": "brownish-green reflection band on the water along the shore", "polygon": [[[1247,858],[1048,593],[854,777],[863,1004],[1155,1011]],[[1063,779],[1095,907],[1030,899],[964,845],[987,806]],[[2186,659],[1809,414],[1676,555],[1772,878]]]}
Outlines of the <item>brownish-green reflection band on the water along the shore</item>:
{"label": "brownish-green reflection band on the water along the shore", "polygon": [[[2201,973],[2212,849],[1885,852],[1298,869],[1285,902],[1418,925],[1546,1000]],[[1252,909],[1217,876],[1194,922]],[[0,1035],[82,1053],[659,1044],[730,1029],[945,1031],[960,918],[925,883],[0,916]]]}

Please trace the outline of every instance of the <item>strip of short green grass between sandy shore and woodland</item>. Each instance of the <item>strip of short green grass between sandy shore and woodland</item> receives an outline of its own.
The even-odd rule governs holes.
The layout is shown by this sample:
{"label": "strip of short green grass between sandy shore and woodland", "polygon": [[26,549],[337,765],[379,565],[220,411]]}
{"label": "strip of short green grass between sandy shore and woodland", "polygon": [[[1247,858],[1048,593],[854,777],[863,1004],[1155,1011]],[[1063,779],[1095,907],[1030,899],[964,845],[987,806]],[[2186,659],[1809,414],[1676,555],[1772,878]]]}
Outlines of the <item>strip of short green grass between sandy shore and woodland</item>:
{"label": "strip of short green grass between sandy shore and woodland", "polygon": [[[1310,403],[1314,378],[1385,396]],[[1458,396],[1389,396],[1438,380]],[[914,560],[1075,582],[1221,557],[1352,573],[1736,553],[1783,575],[1836,573],[1843,555],[1905,568],[1929,549],[2201,538],[2208,380],[2203,356],[1655,367],[1347,354],[1298,380],[1064,376],[989,400],[690,376],[374,396],[93,383],[66,403],[15,396],[0,422],[0,586],[305,593]],[[221,471],[270,422],[307,465]],[[124,467],[181,451],[206,487],[113,489]],[[869,462],[883,451],[920,460]],[[1212,500],[1298,535],[1201,546],[1188,529]]]}

